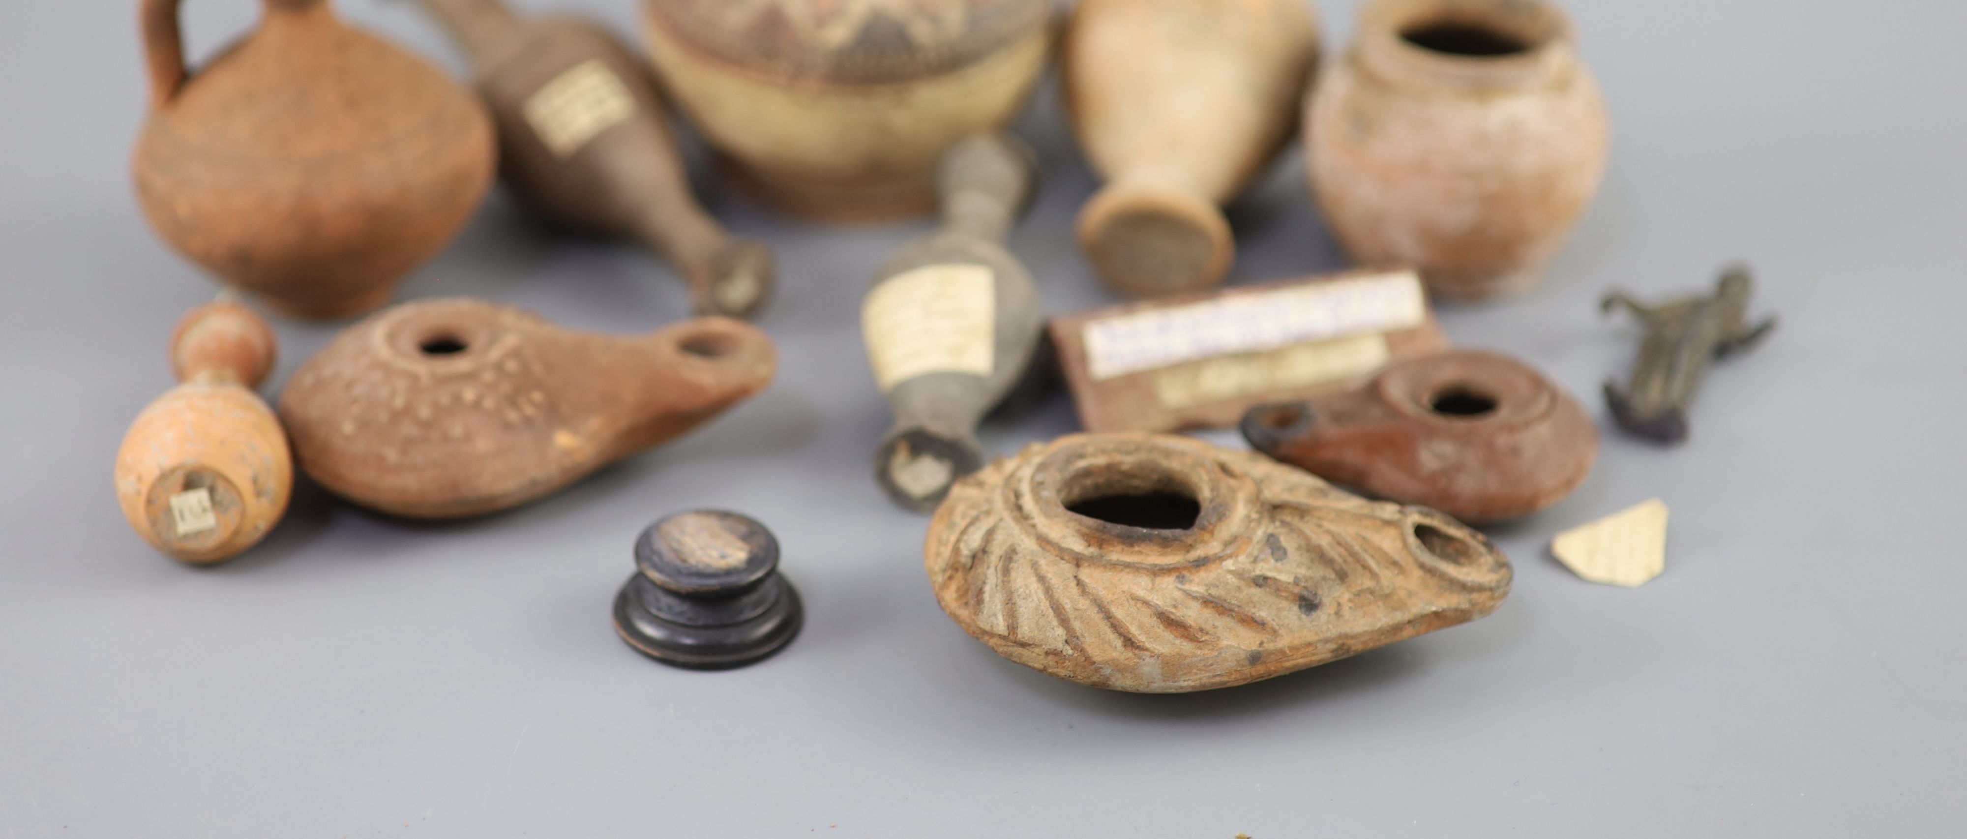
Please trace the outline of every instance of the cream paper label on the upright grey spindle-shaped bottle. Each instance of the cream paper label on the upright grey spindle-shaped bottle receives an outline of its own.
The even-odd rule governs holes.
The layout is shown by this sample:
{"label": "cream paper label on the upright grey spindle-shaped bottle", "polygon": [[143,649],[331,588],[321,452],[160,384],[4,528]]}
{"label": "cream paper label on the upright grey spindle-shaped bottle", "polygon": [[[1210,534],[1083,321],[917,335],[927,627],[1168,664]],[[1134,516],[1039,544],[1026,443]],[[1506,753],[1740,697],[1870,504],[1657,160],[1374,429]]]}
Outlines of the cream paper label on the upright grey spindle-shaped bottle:
{"label": "cream paper label on the upright grey spindle-shaped bottle", "polygon": [[862,339],[881,392],[926,372],[989,376],[995,333],[997,288],[984,266],[915,268],[862,303]]}

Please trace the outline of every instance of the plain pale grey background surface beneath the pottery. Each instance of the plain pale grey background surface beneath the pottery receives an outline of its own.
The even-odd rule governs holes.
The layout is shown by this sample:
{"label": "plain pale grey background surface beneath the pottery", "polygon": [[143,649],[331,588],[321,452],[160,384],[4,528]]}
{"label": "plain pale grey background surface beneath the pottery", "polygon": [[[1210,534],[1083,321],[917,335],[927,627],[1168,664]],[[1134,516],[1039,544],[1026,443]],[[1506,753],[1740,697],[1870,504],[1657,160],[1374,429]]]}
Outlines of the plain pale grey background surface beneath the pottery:
{"label": "plain pale grey background surface beneath the pottery", "polygon": [[[462,69],[409,4],[338,6]],[[629,0],[568,6],[631,26]],[[1572,10],[1615,122],[1603,193],[1542,290],[1448,309],[1448,333],[1603,418],[1635,347],[1597,317],[1607,286],[1662,295],[1747,258],[1782,329],[1713,372],[1688,445],[1607,427],[1581,490],[1493,530],[1517,563],[1493,616],[1143,697],[964,636],[923,575],[926,520],[869,479],[887,416],[858,301],[926,223],[801,226],[714,187],[783,264],[761,321],[783,370],[755,402],[509,514],[407,524],[303,484],[230,565],[151,553],[110,461],[214,286],[130,197],[134,2],[0,4],[0,837],[1959,835],[1967,6]],[[1330,53],[1355,4],[1322,12]],[[207,55],[254,4],[185,16]],[[1019,130],[1044,187],[1013,250],[1048,311],[1107,301],[1070,236],[1094,183],[1050,87]],[[1231,282],[1345,264],[1296,158],[1233,219]],[[657,260],[551,238],[506,195],[399,297],[441,293],[624,333],[685,315]],[[277,376],[336,327],[279,321]],[[1074,427],[1054,394],[985,443]],[[1672,506],[1650,585],[1548,557],[1650,496]],[[783,540],[808,622],[779,658],[681,672],[610,630],[635,532],[690,506]]]}

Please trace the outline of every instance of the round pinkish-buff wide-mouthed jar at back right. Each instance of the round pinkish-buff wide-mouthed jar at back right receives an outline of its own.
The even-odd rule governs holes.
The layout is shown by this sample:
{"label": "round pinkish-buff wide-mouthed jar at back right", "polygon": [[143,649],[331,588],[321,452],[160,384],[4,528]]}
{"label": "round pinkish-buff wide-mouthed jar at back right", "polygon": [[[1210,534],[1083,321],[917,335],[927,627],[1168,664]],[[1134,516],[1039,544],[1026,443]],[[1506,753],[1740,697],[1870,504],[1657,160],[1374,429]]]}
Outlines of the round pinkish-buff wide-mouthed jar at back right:
{"label": "round pinkish-buff wide-mouthed jar at back right", "polygon": [[1326,225],[1361,264],[1483,299],[1542,278],[1597,193],[1609,128],[1544,0],[1373,0],[1308,108]]}

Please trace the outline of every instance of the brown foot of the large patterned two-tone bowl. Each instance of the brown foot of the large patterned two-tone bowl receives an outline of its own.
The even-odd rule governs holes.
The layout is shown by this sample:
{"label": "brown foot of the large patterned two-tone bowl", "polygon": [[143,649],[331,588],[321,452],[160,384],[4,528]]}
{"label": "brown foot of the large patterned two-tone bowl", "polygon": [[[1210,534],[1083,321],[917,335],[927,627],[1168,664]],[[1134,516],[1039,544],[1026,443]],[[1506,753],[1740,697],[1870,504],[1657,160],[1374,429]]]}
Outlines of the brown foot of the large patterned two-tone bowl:
{"label": "brown foot of the large patterned two-tone bowl", "polygon": [[718,156],[718,175],[775,211],[818,223],[854,225],[919,219],[936,211],[934,171],[812,177],[769,171]]}

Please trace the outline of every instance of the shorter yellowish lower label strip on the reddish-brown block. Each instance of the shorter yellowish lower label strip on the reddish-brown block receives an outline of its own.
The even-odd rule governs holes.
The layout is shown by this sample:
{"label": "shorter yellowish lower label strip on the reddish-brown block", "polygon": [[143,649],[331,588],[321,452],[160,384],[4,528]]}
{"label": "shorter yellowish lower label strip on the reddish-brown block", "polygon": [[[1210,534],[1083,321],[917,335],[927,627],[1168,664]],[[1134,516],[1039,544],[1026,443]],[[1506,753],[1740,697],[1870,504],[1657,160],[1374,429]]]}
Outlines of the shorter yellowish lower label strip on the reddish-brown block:
{"label": "shorter yellowish lower label strip on the reddish-brown block", "polygon": [[1157,370],[1155,402],[1184,410],[1259,394],[1308,390],[1343,382],[1387,366],[1391,353],[1381,333],[1316,341],[1255,355],[1204,358]]}

